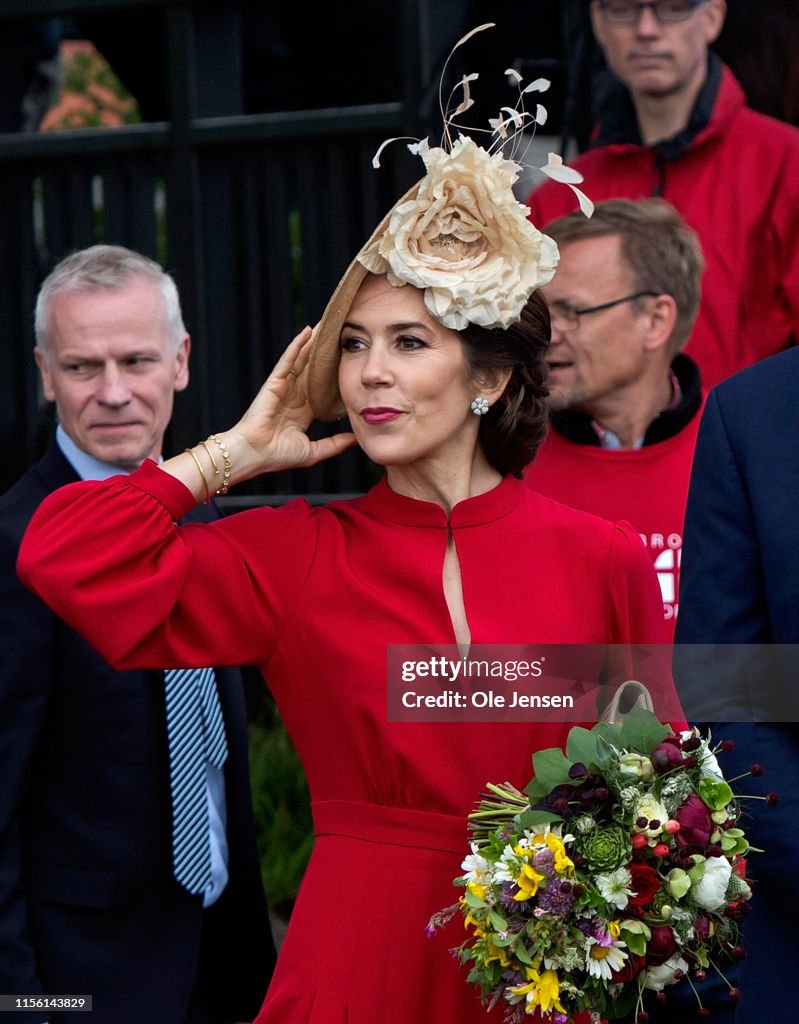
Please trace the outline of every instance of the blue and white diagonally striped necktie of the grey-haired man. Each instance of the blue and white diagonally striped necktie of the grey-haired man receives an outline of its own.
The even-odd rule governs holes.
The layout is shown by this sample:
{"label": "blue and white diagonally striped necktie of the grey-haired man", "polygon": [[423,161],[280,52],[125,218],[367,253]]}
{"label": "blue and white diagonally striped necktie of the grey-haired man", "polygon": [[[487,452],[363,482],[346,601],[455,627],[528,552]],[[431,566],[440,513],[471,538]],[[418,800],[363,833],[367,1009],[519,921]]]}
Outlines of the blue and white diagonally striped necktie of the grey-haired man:
{"label": "blue and white diagonally striped necktie of the grey-haired man", "polygon": [[213,669],[170,669],[166,683],[169,783],[172,791],[172,861],[190,893],[211,884],[206,763],[227,757],[224,722]]}

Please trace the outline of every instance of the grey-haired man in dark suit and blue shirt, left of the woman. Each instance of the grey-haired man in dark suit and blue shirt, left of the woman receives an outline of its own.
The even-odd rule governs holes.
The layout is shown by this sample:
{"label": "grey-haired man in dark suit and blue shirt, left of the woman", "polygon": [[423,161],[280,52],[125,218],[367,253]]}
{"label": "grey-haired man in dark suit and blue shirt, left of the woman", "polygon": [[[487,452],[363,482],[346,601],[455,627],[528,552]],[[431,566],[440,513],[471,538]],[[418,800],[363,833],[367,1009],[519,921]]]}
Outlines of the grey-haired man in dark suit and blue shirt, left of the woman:
{"label": "grey-haired man in dark suit and blue shirt, left of the woman", "polygon": [[[45,281],[36,334],[58,427],[0,498],[0,992],[90,995],[92,1024],[249,1021],[275,946],[241,673],[217,670],[209,691],[227,753],[219,767],[200,762],[210,866],[191,892],[174,873],[164,672],[115,672],[15,573],[46,495],[161,457],[174,394],[188,383],[177,291],[157,263],[95,246]],[[3,1019],[89,1017],[43,1006]]]}

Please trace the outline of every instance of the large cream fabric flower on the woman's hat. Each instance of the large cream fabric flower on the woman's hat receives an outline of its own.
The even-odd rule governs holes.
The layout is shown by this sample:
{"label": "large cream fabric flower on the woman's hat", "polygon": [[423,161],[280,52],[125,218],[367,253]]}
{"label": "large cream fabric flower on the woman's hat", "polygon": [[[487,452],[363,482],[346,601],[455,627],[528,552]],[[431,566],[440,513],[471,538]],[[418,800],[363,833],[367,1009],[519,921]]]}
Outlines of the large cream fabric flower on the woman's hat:
{"label": "large cream fabric flower on the woman's hat", "polygon": [[422,289],[433,316],[454,331],[509,327],[558,259],[513,194],[518,165],[466,136],[449,151],[426,140],[412,148],[427,174],[359,261],[394,286]]}

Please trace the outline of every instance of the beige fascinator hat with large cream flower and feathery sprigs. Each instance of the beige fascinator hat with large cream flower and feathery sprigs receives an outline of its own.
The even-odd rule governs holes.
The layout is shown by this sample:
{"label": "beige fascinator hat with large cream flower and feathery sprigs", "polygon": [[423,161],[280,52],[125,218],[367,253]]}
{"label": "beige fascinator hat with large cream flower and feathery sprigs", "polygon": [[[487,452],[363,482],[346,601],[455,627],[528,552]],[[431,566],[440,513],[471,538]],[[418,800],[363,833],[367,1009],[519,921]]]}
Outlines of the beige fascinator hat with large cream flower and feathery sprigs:
{"label": "beige fascinator hat with large cream flower and feathery sprigs", "polygon": [[[493,25],[472,30],[453,52],[490,28]],[[519,102],[516,108],[503,108],[499,118],[490,121],[490,148],[463,134],[452,140],[457,128],[452,119],[472,105],[469,83],[477,75],[464,76],[458,83],[456,89],[462,89],[463,99],[451,115],[441,104],[444,144],[431,147],[423,139],[408,146],[423,160],[424,177],[377,225],[347,267],[317,326],[307,393],[318,419],[336,420],[344,413],[338,389],[341,327],[368,273],[385,274],[396,288],[413,285],[420,289],[432,315],[445,327],[460,331],[469,324],[485,328],[514,324],[530,295],[555,272],[557,246],[528,219],[528,207],[513,193],[521,167],[503,153],[531,127],[544,124],[543,106],[538,104],[535,115],[519,108],[527,93],[544,91],[549,82],[538,79],[521,88],[515,71],[506,74],[519,84]],[[375,167],[380,166],[380,153],[391,141],[395,140],[381,145],[373,160]],[[567,184],[590,216],[593,204],[575,187],[582,175],[555,154],[539,170]]]}

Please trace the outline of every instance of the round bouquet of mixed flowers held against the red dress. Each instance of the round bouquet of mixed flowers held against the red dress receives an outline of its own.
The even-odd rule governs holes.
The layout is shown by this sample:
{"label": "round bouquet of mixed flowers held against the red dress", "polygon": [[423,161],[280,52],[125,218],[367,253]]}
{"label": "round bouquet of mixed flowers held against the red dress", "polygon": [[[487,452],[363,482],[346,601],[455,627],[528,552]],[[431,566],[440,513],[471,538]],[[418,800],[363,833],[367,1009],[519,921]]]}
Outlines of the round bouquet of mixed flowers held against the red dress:
{"label": "round bouquet of mixed flowers held against the red dress", "polygon": [[724,977],[752,895],[741,798],[716,758],[727,744],[636,709],[573,728],[565,753],[535,754],[525,793],[487,786],[455,880],[463,895],[428,933],[462,913],[469,937],[453,951],[489,1008],[504,1000],[517,1022],[592,1011],[645,1024],[645,992]]}

